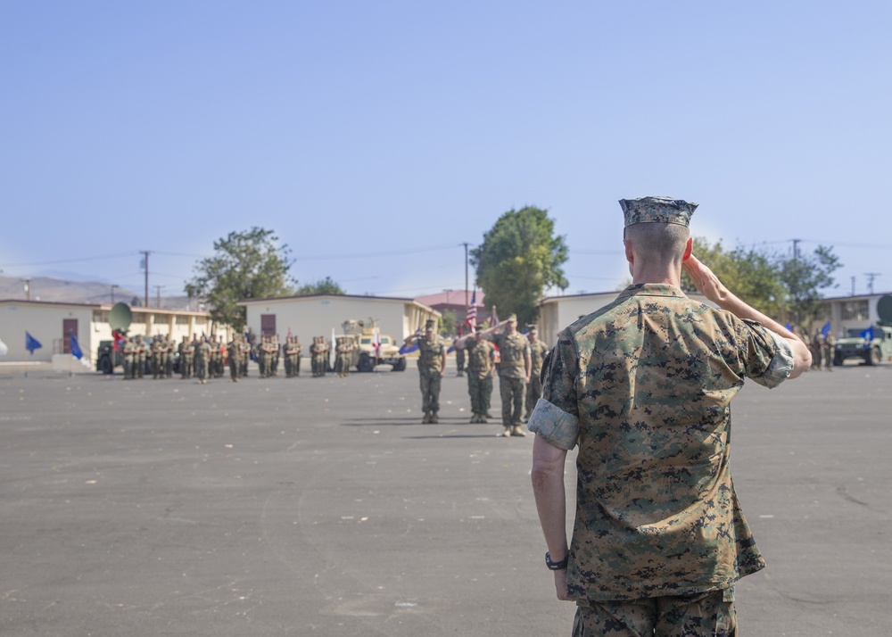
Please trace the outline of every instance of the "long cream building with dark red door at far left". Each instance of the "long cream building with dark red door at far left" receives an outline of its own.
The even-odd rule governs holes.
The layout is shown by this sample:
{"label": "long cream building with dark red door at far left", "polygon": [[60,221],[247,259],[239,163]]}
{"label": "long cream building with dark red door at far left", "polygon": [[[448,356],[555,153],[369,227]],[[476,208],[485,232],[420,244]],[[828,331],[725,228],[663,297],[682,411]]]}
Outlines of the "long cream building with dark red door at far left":
{"label": "long cream building with dark red door at far left", "polygon": [[[0,340],[9,352],[0,362],[50,362],[54,356],[66,364],[74,334],[84,358],[95,366],[100,341],[111,340],[109,304],[45,301],[0,301]],[[128,335],[171,335],[176,341],[193,334],[219,334],[228,338],[226,327],[214,326],[208,312],[131,308],[133,320]],[[42,345],[30,354],[25,333]]]}

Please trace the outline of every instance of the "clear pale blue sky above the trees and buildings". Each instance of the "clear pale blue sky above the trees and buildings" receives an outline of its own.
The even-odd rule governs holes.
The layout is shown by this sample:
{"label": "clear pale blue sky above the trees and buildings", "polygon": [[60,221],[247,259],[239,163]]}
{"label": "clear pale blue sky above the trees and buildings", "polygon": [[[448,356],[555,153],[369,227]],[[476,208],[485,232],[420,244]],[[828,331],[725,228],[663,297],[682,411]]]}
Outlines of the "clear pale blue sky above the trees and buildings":
{"label": "clear pale blue sky above the trees and buildings", "polygon": [[[180,294],[252,226],[301,283],[463,289],[549,210],[567,294],[627,277],[621,198],[892,290],[888,2],[0,0],[0,269]],[[473,271],[471,274],[473,282]],[[154,287],[152,287],[154,295]]]}

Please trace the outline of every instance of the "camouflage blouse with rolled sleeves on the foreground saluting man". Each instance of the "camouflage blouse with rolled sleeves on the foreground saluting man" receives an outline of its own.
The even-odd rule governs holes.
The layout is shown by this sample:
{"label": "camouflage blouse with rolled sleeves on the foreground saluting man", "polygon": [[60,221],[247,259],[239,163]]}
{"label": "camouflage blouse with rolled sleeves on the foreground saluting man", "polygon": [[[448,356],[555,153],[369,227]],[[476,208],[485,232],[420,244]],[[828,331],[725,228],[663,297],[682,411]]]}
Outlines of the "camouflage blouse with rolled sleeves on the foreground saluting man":
{"label": "camouflage blouse with rolled sleeves on the foreground saluting man", "polygon": [[705,592],[764,567],[731,482],[730,403],[791,365],[780,337],[673,285],[632,285],[561,332],[530,429],[579,444],[571,596]]}

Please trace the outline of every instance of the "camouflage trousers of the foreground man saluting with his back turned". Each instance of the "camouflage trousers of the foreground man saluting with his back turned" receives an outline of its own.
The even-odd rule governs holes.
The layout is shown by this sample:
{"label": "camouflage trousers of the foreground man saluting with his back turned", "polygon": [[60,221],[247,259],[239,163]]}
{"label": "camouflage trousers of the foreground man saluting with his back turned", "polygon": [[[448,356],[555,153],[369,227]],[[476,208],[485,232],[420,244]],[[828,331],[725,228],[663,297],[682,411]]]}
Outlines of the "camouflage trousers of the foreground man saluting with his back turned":
{"label": "camouflage trousers of the foreground man saluting with his back turned", "polygon": [[734,588],[646,600],[591,601],[576,609],[573,637],[735,637]]}

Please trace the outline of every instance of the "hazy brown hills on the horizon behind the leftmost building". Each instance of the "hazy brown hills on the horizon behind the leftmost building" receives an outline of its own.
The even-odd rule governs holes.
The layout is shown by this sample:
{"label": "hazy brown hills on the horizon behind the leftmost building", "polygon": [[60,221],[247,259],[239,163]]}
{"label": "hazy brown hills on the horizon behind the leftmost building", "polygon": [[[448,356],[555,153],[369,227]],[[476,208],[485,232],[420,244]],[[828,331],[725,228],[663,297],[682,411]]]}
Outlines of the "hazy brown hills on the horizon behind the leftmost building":
{"label": "hazy brown hills on the horizon behind the leftmost building", "polygon": [[[31,277],[29,281],[31,301],[67,302],[67,303],[111,303],[111,285],[97,281],[73,281],[55,277]],[[131,304],[134,297],[143,303],[143,294],[127,288],[114,289],[115,302]],[[21,299],[24,301],[25,284],[21,277],[4,277],[0,275],[0,299]],[[149,305],[155,307],[156,298],[149,297]],[[161,308],[169,310],[187,310],[189,299],[186,296],[162,296]],[[193,310],[197,303],[193,302]]]}

